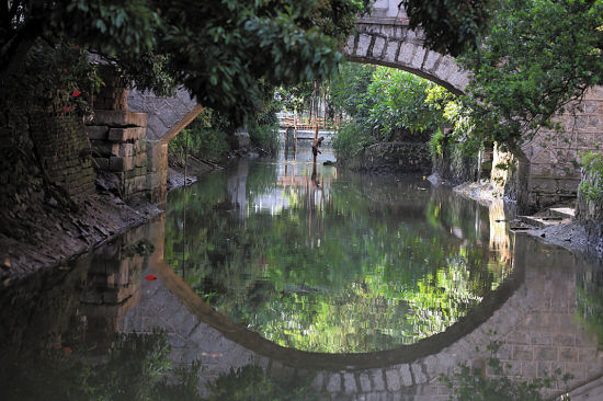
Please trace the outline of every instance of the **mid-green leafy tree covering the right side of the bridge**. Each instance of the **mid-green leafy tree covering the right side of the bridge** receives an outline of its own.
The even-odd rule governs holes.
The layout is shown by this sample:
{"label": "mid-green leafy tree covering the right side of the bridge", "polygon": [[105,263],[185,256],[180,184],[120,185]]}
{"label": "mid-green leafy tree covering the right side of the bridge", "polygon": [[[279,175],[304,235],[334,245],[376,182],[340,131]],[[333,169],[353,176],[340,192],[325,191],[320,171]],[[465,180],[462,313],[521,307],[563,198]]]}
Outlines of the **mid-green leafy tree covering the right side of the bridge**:
{"label": "mid-green leafy tree covering the right side of the bridge", "polygon": [[473,136],[511,149],[569,101],[602,82],[603,1],[497,0],[479,46],[459,58],[474,72],[465,106]]}

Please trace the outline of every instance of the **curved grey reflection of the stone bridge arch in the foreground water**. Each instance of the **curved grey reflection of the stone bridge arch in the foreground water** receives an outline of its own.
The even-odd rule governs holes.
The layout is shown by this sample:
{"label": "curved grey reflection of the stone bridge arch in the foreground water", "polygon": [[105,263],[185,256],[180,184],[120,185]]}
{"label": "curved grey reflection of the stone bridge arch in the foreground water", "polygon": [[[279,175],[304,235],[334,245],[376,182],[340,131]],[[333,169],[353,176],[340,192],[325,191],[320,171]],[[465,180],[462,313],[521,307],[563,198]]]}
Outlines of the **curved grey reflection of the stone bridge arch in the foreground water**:
{"label": "curved grey reflection of the stone bridge arch in the foreground water", "polygon": [[[162,245],[159,233],[149,267],[160,280],[143,283],[143,299],[122,321],[122,331],[166,329],[172,358],[183,364],[202,359],[205,380],[255,364],[270,375],[317,374],[314,386],[342,399],[445,394],[439,376],[457,363],[481,364],[492,340],[502,343],[501,360],[523,377],[561,367],[576,376],[571,385],[581,385],[603,371],[596,343],[572,322],[573,256],[561,249],[541,252],[534,239],[517,241],[512,276],[444,333],[392,351],[339,355],[285,348],[230,322],[163,261]],[[557,267],[551,260],[559,262]]]}

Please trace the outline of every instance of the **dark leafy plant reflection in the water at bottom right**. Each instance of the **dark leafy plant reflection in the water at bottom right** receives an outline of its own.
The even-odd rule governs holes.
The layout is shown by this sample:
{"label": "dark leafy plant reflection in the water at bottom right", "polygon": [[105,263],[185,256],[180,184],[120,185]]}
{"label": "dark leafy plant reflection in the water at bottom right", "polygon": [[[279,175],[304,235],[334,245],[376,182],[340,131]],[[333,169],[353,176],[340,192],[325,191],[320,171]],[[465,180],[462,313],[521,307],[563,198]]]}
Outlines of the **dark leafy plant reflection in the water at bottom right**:
{"label": "dark leafy plant reflection in the water at bottom right", "polygon": [[493,342],[488,346],[490,357],[483,367],[487,371],[462,364],[451,377],[440,377],[452,391],[451,401],[544,401],[542,390],[567,385],[572,378],[569,374],[561,376],[559,369],[535,379],[510,377],[505,365],[496,357],[500,345]]}

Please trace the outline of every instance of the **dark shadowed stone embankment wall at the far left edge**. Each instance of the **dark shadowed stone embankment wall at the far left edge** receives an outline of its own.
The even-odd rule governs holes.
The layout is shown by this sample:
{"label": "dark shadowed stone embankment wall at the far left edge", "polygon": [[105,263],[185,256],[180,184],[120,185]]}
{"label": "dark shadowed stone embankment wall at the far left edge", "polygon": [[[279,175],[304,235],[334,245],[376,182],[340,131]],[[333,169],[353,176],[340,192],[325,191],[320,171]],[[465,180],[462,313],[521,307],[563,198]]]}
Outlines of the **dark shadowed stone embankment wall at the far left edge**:
{"label": "dark shadowed stone embankment wall at the far left edge", "polygon": [[65,200],[94,191],[90,142],[72,112],[70,94],[25,99],[2,90],[0,99],[0,204],[25,210],[44,198]]}

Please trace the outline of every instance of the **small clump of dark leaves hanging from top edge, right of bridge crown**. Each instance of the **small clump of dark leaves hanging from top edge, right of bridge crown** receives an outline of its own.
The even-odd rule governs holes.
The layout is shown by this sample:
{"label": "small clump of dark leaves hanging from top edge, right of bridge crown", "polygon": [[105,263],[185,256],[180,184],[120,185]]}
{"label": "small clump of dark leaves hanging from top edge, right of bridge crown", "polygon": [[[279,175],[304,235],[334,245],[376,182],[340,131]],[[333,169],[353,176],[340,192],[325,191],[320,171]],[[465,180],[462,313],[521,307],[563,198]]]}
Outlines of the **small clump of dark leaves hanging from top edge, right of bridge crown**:
{"label": "small clump of dark leaves hanging from top edge, right of bridge crown", "polygon": [[475,48],[491,15],[492,1],[402,0],[412,28],[425,32],[432,49],[457,56]]}

